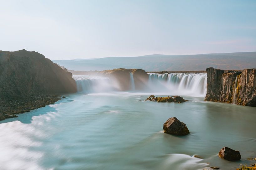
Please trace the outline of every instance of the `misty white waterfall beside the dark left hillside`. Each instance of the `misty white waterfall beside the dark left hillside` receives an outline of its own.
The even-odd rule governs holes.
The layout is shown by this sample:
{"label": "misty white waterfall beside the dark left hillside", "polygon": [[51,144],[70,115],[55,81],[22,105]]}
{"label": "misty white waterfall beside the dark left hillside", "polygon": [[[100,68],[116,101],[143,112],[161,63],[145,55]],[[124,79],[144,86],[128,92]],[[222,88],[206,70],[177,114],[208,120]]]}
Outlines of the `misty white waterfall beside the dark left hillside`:
{"label": "misty white waterfall beside the dark left hillside", "polygon": [[100,93],[115,90],[115,86],[108,77],[74,75],[78,92]]}

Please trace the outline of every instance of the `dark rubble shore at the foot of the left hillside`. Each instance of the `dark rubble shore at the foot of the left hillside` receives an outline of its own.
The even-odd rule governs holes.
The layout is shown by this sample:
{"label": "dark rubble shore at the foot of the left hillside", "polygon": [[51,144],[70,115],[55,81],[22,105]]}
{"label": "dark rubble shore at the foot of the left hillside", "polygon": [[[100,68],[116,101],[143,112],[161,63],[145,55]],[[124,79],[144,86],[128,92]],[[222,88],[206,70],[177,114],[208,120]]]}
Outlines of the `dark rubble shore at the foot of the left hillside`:
{"label": "dark rubble shore at the foot of the left hillside", "polygon": [[19,99],[0,99],[0,120],[17,117],[16,114],[53,104],[61,98],[60,95],[37,94]]}

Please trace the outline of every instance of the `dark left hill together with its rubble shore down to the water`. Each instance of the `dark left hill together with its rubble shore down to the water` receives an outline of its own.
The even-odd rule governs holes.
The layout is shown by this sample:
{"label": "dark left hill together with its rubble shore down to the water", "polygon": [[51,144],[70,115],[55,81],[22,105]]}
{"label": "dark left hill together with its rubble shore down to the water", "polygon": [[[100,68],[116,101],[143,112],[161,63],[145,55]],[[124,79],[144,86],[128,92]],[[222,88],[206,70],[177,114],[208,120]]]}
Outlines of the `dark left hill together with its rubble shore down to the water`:
{"label": "dark left hill together with its rubble shore down to the water", "polygon": [[[5,114],[23,113],[53,103],[58,100],[56,95],[72,92],[76,92],[76,82],[72,74],[42,54],[26,50],[0,51],[0,114],[2,114],[0,117],[2,119]],[[26,103],[30,100],[30,104]]]}

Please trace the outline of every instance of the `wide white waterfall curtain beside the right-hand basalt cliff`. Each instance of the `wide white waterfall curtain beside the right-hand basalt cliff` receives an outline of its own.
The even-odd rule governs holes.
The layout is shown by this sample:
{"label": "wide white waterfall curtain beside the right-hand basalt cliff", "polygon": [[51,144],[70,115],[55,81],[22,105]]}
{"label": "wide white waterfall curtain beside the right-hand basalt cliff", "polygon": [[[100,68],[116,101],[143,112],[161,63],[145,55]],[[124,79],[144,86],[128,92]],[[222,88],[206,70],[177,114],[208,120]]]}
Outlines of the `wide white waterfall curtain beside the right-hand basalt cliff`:
{"label": "wide white waterfall curtain beside the right-hand basalt cliff", "polygon": [[149,88],[154,92],[205,97],[206,73],[149,73]]}

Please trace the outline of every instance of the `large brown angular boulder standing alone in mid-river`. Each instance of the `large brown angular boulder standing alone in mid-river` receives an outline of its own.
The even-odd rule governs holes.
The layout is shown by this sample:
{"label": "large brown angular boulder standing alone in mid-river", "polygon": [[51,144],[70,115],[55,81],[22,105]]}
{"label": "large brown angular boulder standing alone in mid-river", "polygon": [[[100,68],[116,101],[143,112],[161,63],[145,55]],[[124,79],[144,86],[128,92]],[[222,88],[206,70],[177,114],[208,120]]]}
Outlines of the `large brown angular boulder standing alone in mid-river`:
{"label": "large brown angular boulder standing alone in mid-river", "polygon": [[180,122],[177,118],[169,118],[164,124],[164,132],[167,134],[174,135],[187,135],[189,130],[185,123]]}

